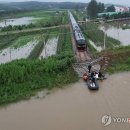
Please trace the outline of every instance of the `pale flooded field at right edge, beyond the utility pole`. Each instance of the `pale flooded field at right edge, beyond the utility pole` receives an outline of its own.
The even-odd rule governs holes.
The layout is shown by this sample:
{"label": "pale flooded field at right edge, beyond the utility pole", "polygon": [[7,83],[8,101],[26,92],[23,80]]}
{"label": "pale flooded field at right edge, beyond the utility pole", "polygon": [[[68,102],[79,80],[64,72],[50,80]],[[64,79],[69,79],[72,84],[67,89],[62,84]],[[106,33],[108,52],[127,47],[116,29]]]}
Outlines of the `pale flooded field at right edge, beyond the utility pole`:
{"label": "pale flooded field at right edge, beyond the utility pole", "polygon": [[117,28],[114,26],[109,26],[107,28],[100,26],[100,29],[106,32],[108,36],[119,40],[122,45],[130,45],[130,29],[123,30],[122,28]]}

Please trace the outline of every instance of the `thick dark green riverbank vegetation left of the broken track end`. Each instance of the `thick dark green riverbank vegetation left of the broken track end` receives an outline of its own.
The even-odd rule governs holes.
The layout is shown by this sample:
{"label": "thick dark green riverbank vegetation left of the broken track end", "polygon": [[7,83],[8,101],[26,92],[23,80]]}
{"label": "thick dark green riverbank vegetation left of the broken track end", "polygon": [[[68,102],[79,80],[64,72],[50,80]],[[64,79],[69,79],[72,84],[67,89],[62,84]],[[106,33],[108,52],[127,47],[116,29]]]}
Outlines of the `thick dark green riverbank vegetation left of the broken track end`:
{"label": "thick dark green riverbank vegetation left of the broken track end", "polygon": [[78,79],[72,55],[18,60],[0,65],[0,104],[28,99],[40,89],[62,87]]}

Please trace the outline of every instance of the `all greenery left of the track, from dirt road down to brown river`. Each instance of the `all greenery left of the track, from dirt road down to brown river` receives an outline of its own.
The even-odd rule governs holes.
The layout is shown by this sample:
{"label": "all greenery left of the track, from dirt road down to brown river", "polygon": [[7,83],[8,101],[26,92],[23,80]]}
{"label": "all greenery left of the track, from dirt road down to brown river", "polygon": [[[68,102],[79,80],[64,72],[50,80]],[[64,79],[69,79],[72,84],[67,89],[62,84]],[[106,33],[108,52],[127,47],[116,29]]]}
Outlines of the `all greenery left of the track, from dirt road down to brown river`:
{"label": "all greenery left of the track, from dirt road down to brown river", "polygon": [[50,29],[39,31],[39,33],[9,35],[10,38],[15,37],[12,39],[12,43],[7,46],[16,48],[23,46],[34,36],[39,37],[39,44],[34,48],[28,59],[15,60],[0,65],[0,105],[29,99],[40,90],[63,87],[78,80],[78,75],[72,68],[75,59],[71,50],[69,33],[59,35],[57,55],[48,59],[38,59],[44,47],[43,38],[47,41],[48,38],[57,36],[59,32],[69,32],[69,29]]}

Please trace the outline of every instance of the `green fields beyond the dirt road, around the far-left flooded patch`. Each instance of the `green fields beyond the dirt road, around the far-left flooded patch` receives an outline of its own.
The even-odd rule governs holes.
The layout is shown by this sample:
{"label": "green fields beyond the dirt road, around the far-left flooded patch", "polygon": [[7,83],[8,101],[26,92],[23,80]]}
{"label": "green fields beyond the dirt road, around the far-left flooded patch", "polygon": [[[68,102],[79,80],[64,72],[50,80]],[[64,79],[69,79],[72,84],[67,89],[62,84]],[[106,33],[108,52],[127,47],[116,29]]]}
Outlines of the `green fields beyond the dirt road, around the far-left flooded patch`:
{"label": "green fields beyond the dirt road, around the far-left flooded patch", "polygon": [[41,28],[41,27],[51,27],[61,25],[62,22],[67,23],[68,15],[66,11],[32,11],[25,13],[18,13],[13,17],[34,17],[36,19],[33,20],[32,23],[28,25],[18,25],[18,26],[7,26],[1,29],[1,32],[5,31],[14,31],[14,30],[24,30],[31,28]]}

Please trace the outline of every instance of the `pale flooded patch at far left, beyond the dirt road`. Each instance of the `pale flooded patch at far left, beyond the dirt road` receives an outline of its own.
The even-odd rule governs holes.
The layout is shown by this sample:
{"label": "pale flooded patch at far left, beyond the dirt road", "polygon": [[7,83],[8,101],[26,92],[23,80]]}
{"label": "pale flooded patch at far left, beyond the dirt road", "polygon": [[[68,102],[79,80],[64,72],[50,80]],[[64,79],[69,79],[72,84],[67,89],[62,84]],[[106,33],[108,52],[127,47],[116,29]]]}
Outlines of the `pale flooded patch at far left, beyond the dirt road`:
{"label": "pale flooded patch at far left, beyond the dirt road", "polygon": [[27,25],[32,23],[32,21],[36,19],[34,17],[22,17],[16,19],[5,19],[4,21],[0,22],[0,27],[6,27],[8,25]]}

